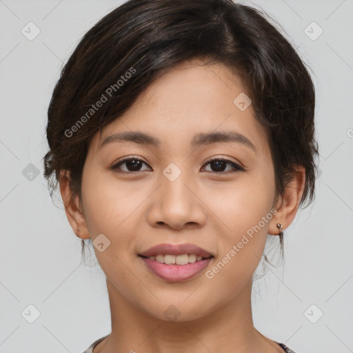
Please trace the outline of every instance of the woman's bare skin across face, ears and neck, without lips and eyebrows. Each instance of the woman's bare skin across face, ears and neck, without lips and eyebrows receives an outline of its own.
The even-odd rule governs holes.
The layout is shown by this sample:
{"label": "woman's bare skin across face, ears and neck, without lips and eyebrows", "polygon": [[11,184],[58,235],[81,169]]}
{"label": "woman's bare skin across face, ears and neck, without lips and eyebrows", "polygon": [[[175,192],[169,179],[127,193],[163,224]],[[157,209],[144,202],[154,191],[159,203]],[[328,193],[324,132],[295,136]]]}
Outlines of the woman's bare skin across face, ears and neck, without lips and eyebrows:
{"label": "woman's bare skin across face, ears and neck, without lips and eyebrows", "polygon": [[[225,65],[200,63],[185,62],[164,74],[94,136],[81,201],[71,194],[70,172],[61,173],[61,196],[74,232],[92,241],[103,233],[111,242],[103,252],[94,248],[106,275],[112,319],[112,333],[94,353],[283,352],[254,328],[252,274],[267,234],[279,234],[276,223],[283,230],[292,223],[305,171],[298,166],[283,196],[277,195],[268,133],[254,119],[252,105],[241,111],[233,103],[245,88]],[[256,151],[234,141],[190,146],[196,133],[230,130],[243,134]],[[161,146],[128,141],[99,148],[105,137],[124,131],[150,134]],[[129,171],[126,163],[121,172],[110,169],[128,156],[144,162],[141,171]],[[210,157],[245,170],[228,163],[217,171],[207,163]],[[175,181],[163,174],[170,163],[181,170]],[[272,208],[277,210],[272,219],[208,279],[205,271]],[[201,274],[171,283],[152,274],[137,256],[159,243],[194,243],[215,258]],[[180,312],[177,321],[163,314],[170,305]]]}

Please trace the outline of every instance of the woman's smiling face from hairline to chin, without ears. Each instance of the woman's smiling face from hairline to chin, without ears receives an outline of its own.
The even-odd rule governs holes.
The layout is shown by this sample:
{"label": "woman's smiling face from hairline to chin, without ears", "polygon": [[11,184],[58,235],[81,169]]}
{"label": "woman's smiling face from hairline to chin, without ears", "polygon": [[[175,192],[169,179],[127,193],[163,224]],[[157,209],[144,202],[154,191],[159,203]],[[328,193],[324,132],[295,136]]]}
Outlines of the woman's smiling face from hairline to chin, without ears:
{"label": "woman's smiling face from hairline to chin, without ears", "polygon": [[[151,316],[174,305],[179,320],[197,319],[250,288],[276,193],[268,134],[244,92],[222,64],[183,63],[90,143],[81,190],[92,242],[103,243],[94,251],[114,291]],[[139,254],[161,243],[213,256],[196,273],[159,264],[159,276]],[[177,278],[165,266],[190,270]]]}

